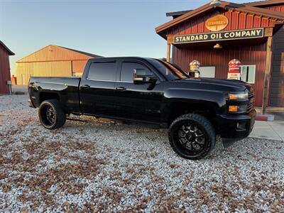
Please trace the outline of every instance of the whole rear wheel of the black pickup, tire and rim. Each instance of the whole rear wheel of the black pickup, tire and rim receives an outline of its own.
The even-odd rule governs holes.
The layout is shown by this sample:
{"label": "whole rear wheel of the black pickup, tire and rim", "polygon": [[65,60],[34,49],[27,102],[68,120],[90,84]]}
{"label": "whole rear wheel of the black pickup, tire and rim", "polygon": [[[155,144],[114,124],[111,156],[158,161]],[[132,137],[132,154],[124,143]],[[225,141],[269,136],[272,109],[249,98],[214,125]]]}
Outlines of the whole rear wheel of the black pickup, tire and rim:
{"label": "whole rear wheel of the black pickup, tire and rim", "polygon": [[66,114],[55,99],[46,100],[40,104],[38,109],[40,123],[46,129],[58,129],[65,124]]}

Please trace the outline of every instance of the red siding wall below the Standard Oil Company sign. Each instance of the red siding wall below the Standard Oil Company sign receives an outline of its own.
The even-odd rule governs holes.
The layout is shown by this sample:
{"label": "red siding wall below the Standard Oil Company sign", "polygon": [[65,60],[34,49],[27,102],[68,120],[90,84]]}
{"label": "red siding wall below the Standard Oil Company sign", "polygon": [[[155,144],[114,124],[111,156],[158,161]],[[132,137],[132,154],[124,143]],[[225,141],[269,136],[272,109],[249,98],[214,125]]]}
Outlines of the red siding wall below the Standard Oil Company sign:
{"label": "red siding wall below the Standard Oil Company sign", "polygon": [[200,61],[202,66],[215,66],[215,75],[226,78],[228,63],[232,59],[241,60],[242,65],[256,65],[256,80],[252,84],[256,89],[256,105],[262,103],[263,79],[266,66],[266,44],[246,46],[241,48],[173,48],[173,62],[183,70],[189,70],[192,60]]}

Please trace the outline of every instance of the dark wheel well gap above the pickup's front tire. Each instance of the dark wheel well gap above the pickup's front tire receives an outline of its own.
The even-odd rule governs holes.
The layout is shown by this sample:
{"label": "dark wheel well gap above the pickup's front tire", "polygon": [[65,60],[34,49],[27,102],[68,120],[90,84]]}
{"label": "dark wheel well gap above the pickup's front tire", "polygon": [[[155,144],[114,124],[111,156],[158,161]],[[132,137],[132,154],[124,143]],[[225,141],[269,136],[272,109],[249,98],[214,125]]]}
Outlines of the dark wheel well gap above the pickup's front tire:
{"label": "dark wheel well gap above the pickup's front tire", "polygon": [[176,102],[172,104],[171,113],[168,117],[168,126],[183,114],[195,113],[200,114],[212,122],[212,116],[215,115],[214,109],[205,104],[190,104],[185,102]]}

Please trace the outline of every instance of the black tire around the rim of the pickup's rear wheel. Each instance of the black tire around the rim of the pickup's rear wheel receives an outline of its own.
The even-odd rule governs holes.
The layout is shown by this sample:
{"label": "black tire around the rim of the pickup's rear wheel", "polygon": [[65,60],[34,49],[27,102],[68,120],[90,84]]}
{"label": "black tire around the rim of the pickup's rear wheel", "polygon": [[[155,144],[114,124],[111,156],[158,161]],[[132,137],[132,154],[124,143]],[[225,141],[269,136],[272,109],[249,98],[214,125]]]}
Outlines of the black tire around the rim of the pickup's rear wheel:
{"label": "black tire around the rim of the pickup's rear wheel", "polygon": [[[48,121],[45,118],[45,109],[47,107],[51,107],[54,111],[54,122],[53,124],[47,124]],[[58,129],[61,126],[65,124],[66,121],[66,114],[63,111],[60,102],[56,99],[50,99],[42,102],[40,104],[40,107],[38,109],[38,117],[40,119],[40,123],[46,128],[46,129]]]}

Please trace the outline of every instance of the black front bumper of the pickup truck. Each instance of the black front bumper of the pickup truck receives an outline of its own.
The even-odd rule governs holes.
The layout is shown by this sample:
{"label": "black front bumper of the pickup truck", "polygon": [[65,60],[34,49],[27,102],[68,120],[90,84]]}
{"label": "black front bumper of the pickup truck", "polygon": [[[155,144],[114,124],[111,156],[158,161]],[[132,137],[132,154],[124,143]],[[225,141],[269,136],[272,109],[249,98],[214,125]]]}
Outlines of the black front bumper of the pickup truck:
{"label": "black front bumper of the pickup truck", "polygon": [[245,115],[222,114],[217,116],[217,131],[222,138],[224,146],[249,136],[253,130],[255,117],[255,109]]}

